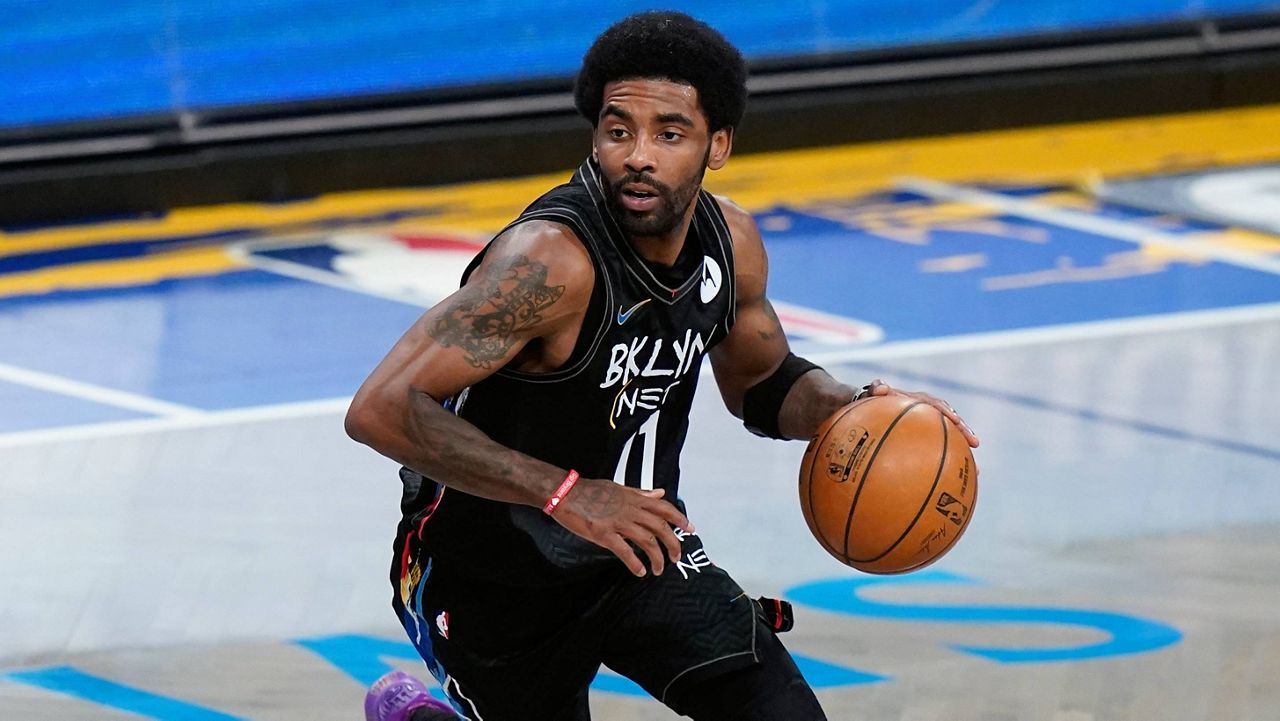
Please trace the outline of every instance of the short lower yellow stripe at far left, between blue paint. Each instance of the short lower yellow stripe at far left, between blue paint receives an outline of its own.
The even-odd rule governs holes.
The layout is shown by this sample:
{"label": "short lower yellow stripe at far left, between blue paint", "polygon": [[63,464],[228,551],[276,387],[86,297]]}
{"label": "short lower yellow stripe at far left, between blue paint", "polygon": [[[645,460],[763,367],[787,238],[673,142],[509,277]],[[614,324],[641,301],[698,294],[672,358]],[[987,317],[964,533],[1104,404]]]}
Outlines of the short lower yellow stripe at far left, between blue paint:
{"label": "short lower yellow stripe at far left, between blue paint", "polygon": [[128,257],[55,265],[0,275],[0,297],[148,286],[173,278],[216,275],[247,266],[221,247],[196,247]]}

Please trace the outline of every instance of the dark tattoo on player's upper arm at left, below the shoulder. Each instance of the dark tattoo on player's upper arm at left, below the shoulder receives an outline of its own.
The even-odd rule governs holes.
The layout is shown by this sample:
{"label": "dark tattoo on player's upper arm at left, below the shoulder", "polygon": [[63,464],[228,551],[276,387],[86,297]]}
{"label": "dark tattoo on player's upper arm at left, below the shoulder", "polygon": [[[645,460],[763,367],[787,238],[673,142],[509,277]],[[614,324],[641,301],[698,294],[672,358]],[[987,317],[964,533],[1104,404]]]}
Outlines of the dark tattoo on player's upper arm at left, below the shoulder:
{"label": "dark tattoo on player's upper arm at left, below the shoulder", "polygon": [[428,333],[466,351],[472,366],[493,368],[563,295],[564,286],[547,284],[545,265],[517,255],[468,284]]}

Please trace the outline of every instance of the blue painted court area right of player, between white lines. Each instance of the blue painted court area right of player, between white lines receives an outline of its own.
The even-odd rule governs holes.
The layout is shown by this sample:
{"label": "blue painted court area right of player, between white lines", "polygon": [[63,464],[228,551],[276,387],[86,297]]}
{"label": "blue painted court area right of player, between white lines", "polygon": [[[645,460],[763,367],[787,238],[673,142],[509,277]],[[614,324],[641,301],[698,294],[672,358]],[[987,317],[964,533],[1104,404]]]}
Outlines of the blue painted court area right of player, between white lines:
{"label": "blue painted court area right of player, between white lines", "polygon": [[[1023,218],[931,218],[938,206],[895,192],[758,214],[769,295],[874,323],[886,342],[1280,301],[1268,273],[1144,257],[1126,241]],[[1098,213],[1138,225],[1151,215]]]}

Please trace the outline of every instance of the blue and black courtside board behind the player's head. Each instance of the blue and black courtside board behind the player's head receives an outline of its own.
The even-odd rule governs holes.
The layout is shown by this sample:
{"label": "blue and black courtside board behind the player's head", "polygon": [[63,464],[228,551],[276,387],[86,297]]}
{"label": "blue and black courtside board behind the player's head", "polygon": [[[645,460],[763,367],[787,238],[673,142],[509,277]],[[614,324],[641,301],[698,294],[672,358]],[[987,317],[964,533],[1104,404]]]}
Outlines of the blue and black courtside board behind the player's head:
{"label": "blue and black courtside board behind the player's head", "polygon": [[[5,3],[0,219],[561,170],[591,38],[650,3]],[[690,3],[740,152],[1274,101],[1276,3]],[[795,132],[796,122],[804,132]]]}

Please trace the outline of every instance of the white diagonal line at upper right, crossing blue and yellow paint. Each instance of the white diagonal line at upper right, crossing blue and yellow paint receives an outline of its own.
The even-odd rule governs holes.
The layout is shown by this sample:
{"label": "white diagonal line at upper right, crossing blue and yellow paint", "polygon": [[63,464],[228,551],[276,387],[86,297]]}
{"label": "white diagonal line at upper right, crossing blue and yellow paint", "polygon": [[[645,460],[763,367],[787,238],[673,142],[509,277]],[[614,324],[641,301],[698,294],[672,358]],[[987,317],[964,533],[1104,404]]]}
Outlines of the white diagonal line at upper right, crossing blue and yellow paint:
{"label": "white diagonal line at upper right, crossing blue and yellow paint", "polygon": [[1140,246],[1172,250],[1184,255],[1202,257],[1204,260],[1216,260],[1219,263],[1228,263],[1240,268],[1249,268],[1252,270],[1261,270],[1263,273],[1280,275],[1280,259],[1253,254],[1240,248],[1226,247],[1220,243],[1179,237],[1171,233],[1161,232],[1156,228],[1130,223],[1128,220],[1102,218],[1078,210],[1053,207],[1043,202],[1036,202],[1034,200],[1010,197],[977,188],[931,181],[927,178],[901,178],[897,181],[896,186],[901,190],[929,196],[934,200],[977,205],[979,207],[988,207],[991,210],[1004,213],[1005,215],[1016,215],[1029,220],[1041,220],[1052,225],[1074,228],[1076,231],[1084,231],[1087,233],[1115,238],[1117,241],[1128,241]]}

